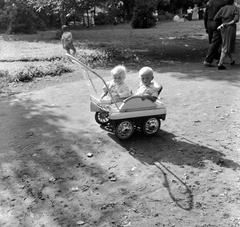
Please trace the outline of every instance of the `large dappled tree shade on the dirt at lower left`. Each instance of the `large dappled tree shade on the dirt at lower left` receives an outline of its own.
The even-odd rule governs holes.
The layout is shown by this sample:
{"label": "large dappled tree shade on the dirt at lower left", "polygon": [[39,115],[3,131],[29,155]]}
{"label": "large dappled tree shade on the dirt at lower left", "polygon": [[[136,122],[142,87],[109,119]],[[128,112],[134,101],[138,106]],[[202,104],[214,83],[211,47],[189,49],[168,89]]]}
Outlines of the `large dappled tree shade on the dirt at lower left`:
{"label": "large dappled tree shade on the dirt at lower left", "polygon": [[117,220],[123,207],[107,213],[108,193],[94,201],[110,182],[108,172],[86,155],[96,152],[89,135],[64,132],[58,122],[67,117],[43,110],[41,102],[11,103],[1,101],[0,110],[1,226],[100,226],[109,217]]}

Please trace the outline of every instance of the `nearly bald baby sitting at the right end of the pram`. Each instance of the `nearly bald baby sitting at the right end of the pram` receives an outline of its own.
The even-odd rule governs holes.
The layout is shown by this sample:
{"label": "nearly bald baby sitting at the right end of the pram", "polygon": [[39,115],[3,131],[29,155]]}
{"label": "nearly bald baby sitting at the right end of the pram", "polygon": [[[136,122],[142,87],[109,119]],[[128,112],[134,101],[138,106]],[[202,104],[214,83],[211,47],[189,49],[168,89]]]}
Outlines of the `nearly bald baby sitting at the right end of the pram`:
{"label": "nearly bald baby sitting at the right end of the pram", "polygon": [[134,95],[140,95],[143,99],[147,98],[155,102],[158,98],[161,86],[153,81],[153,70],[150,67],[143,67],[139,71],[139,78],[141,82]]}

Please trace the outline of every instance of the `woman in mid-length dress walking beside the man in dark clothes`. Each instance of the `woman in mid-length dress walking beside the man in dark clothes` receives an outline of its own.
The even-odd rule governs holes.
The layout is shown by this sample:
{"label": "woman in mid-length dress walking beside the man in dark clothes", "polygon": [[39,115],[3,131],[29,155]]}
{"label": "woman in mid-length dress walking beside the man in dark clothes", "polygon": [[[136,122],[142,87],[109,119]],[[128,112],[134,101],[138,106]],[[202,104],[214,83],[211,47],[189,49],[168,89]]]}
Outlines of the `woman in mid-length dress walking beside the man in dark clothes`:
{"label": "woman in mid-length dress walking beside the man in dark clothes", "polygon": [[235,61],[232,59],[232,53],[234,53],[237,26],[239,21],[239,10],[234,4],[235,0],[227,0],[227,5],[221,8],[215,15],[215,21],[221,21],[222,24],[218,27],[222,35],[222,49],[220,61],[218,63],[218,69],[226,69],[223,65],[223,60],[226,56],[230,58],[230,64],[234,65]]}

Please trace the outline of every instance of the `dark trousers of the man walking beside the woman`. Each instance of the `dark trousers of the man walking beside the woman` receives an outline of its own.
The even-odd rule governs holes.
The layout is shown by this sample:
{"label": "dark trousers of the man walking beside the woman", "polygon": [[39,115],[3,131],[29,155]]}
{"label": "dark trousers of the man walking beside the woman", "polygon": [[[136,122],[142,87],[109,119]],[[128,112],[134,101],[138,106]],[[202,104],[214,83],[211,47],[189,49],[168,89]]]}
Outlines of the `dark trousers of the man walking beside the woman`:
{"label": "dark trousers of the man walking beside the woman", "polygon": [[222,37],[220,30],[217,30],[218,24],[215,21],[207,22],[208,38],[210,46],[205,61],[212,63],[214,59],[220,58],[220,46],[222,44]]}

